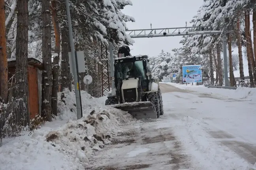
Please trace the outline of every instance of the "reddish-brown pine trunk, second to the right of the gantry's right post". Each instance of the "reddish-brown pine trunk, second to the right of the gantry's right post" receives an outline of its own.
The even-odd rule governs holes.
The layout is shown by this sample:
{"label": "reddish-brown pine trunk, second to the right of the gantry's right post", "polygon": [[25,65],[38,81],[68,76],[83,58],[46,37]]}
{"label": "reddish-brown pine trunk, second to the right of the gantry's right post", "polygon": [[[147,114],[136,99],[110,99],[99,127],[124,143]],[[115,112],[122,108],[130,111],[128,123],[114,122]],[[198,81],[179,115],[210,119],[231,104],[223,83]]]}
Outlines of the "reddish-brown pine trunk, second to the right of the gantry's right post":
{"label": "reddish-brown pine trunk, second to the right of the gantry's right post", "polygon": [[238,43],[238,56],[239,56],[239,72],[241,84],[245,82],[245,74],[243,72],[243,53],[242,53],[242,43],[241,43],[241,29],[240,29],[240,19],[237,17],[237,43]]}

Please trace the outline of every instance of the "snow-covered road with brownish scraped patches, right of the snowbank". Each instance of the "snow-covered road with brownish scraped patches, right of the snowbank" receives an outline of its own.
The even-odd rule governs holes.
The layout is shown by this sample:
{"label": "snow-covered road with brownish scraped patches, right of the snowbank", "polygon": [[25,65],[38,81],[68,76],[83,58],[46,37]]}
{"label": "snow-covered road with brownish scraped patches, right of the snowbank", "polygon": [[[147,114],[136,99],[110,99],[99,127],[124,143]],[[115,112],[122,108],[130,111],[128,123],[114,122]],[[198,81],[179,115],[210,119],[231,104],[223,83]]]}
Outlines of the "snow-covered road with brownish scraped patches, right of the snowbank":
{"label": "snow-covered road with brownish scraped patches, right of the snowbank", "polygon": [[245,170],[256,162],[255,101],[161,89],[164,115],[124,125],[89,170]]}

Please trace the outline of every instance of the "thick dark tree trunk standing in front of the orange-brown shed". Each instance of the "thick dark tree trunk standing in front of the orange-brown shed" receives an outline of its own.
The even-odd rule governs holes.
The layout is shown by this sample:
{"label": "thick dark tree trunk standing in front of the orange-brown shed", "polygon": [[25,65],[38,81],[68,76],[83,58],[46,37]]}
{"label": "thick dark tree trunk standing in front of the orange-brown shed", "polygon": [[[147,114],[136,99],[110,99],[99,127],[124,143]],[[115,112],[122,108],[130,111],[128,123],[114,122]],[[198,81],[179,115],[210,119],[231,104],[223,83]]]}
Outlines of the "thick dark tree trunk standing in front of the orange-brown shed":
{"label": "thick dark tree trunk standing in front of the orange-brown shed", "polygon": [[17,2],[17,37],[16,37],[16,70],[14,113],[17,122],[23,126],[29,121],[28,114],[28,0]]}

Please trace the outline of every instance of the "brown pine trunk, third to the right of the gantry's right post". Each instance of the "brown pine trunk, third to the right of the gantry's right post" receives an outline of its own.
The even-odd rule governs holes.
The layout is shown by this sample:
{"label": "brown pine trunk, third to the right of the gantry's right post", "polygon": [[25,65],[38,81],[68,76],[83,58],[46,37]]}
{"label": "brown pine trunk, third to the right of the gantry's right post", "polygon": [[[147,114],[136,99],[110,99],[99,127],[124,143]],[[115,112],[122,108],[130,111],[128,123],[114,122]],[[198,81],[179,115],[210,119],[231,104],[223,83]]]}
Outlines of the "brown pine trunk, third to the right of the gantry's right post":
{"label": "brown pine trunk, third to the right of the gantry's right post", "polygon": [[253,85],[253,73],[252,73],[252,53],[250,50],[250,17],[248,17],[248,11],[245,11],[245,37],[246,37],[246,49],[247,49],[247,61],[248,61],[248,71],[250,78],[250,87]]}

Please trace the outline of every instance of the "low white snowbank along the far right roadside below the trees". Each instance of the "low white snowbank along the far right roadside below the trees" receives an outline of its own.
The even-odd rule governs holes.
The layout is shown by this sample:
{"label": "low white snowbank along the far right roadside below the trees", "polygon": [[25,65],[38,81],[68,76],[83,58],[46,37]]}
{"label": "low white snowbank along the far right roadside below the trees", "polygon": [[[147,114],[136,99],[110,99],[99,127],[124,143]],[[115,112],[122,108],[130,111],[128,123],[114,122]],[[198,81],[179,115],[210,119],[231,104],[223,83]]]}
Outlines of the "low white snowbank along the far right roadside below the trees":
{"label": "low white snowbank along the far right roadside below the trees", "polygon": [[204,85],[165,83],[183,90],[196,91],[207,94],[215,94],[218,96],[232,99],[246,99],[256,101],[256,88],[237,87],[233,89],[207,88]]}

